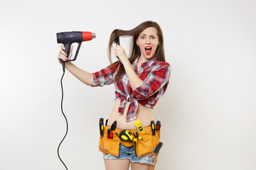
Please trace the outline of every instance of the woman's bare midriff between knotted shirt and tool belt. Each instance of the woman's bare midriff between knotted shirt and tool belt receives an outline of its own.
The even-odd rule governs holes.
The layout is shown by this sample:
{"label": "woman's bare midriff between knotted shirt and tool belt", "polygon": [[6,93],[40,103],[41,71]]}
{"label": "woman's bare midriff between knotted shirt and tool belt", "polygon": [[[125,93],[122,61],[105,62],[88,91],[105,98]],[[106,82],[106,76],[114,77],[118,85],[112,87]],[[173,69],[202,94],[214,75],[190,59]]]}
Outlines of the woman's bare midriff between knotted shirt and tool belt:
{"label": "woman's bare midriff between knotted shirt and tool belt", "polygon": [[140,120],[144,127],[150,125],[151,120],[154,120],[153,109],[142,106],[140,103],[137,110],[137,118],[129,122],[126,121],[126,115],[127,115],[127,110],[129,108],[129,103],[130,102],[127,102],[126,106],[124,107],[124,112],[119,113],[118,108],[120,105],[120,100],[117,100],[114,102],[114,108],[107,122],[108,126],[111,126],[112,123],[114,123],[114,120],[117,120],[117,128],[126,129],[126,130],[135,129],[136,126],[134,125],[134,122],[137,120]]}

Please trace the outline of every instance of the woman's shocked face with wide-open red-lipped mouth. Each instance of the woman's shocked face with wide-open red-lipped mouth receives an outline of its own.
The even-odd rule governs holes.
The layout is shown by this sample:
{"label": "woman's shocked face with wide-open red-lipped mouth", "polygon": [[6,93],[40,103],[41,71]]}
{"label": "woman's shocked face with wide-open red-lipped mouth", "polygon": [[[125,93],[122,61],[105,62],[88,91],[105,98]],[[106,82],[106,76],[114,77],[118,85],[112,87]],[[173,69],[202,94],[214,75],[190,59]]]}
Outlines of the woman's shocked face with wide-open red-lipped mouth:
{"label": "woman's shocked face with wide-open red-lipped mouth", "polygon": [[154,57],[156,48],[159,46],[159,38],[157,36],[157,30],[154,27],[146,28],[139,34],[137,39],[137,45],[141,50],[141,57],[143,62]]}

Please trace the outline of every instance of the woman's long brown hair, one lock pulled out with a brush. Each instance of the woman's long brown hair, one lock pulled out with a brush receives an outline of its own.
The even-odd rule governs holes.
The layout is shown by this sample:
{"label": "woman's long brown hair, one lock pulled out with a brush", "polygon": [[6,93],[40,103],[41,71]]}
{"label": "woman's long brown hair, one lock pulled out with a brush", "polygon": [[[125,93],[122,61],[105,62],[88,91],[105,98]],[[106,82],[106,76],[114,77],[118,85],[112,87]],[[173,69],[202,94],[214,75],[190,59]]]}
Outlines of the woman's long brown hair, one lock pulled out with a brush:
{"label": "woman's long brown hair, one lock pulled out with a brush", "polygon": [[[137,39],[139,37],[139,34],[142,33],[143,30],[149,27],[156,28],[157,35],[159,38],[159,46],[156,49],[156,53],[154,57],[156,57],[156,60],[165,62],[164,37],[161,31],[161,28],[156,22],[145,21],[144,23],[139,24],[139,26],[133,28],[132,30],[119,30],[119,29],[113,30],[113,32],[110,35],[110,42],[108,45],[108,57],[109,57],[110,63],[112,63],[112,60],[111,60],[112,44],[117,37],[121,37],[121,36],[124,36],[124,37],[132,36],[132,43],[131,43],[132,53],[131,53],[131,57],[129,57],[129,62],[130,63],[134,62],[134,60],[141,54],[139,46],[137,45]],[[124,74],[124,66],[121,64],[120,61],[114,62],[113,64],[117,64],[117,65],[120,64],[119,71],[114,77],[114,81],[118,81],[122,76],[122,74]],[[113,65],[113,64],[110,64],[110,65]]]}

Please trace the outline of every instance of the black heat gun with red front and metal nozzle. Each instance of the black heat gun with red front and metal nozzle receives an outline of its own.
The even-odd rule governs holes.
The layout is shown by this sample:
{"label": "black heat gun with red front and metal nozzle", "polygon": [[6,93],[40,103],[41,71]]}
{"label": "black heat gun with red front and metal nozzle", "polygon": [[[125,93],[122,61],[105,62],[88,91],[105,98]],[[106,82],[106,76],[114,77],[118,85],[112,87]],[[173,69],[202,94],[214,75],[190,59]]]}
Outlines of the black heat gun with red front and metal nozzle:
{"label": "black heat gun with red front and metal nozzle", "polygon": [[[78,56],[78,52],[82,41],[88,41],[96,38],[95,33],[87,32],[87,31],[72,31],[72,32],[61,32],[57,33],[57,42],[62,43],[65,47],[64,52],[69,56],[70,54],[70,47],[74,42],[78,42],[78,49],[75,52],[75,57],[73,60],[66,60],[65,62],[73,62],[76,60]],[[64,62],[60,59],[61,62]]]}

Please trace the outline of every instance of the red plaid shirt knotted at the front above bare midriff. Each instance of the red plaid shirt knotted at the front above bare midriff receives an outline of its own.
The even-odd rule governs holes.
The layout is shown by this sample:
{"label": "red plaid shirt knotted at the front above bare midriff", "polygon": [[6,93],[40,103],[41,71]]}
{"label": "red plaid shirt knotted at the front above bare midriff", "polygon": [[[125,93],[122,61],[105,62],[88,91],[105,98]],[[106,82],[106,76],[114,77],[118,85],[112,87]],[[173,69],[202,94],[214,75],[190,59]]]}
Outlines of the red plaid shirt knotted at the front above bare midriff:
{"label": "red plaid shirt knotted at the front above bare midriff", "polygon": [[119,113],[123,113],[127,101],[131,101],[126,116],[127,122],[136,119],[138,103],[148,108],[154,108],[159,98],[166,91],[171,75],[171,67],[167,62],[159,62],[154,57],[142,63],[142,66],[137,70],[138,60],[139,57],[134,60],[132,67],[144,83],[134,90],[132,90],[129,84],[127,74],[123,74],[121,79],[114,82],[114,76],[119,70],[117,65],[112,65],[100,70],[100,72],[92,73],[92,86],[105,86],[106,84],[114,83],[116,100],[120,99]]}

